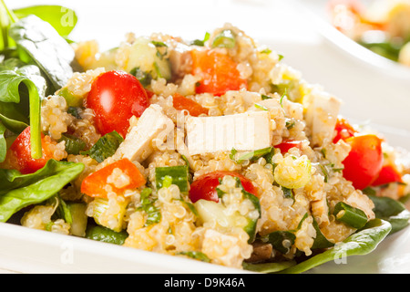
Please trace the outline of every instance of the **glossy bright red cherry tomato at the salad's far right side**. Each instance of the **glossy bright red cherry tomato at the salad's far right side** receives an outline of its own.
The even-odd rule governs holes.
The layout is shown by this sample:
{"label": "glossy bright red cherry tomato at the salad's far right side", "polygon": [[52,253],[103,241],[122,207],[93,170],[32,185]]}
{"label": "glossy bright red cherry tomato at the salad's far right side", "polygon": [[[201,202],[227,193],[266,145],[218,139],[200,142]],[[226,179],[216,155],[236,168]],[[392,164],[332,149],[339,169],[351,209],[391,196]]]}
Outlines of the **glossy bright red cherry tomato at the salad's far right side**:
{"label": "glossy bright red cherry tomato at the salad's far right side", "polygon": [[346,140],[352,146],[344,159],[343,177],[356,189],[371,185],[382,170],[382,140],[375,135],[354,136]]}

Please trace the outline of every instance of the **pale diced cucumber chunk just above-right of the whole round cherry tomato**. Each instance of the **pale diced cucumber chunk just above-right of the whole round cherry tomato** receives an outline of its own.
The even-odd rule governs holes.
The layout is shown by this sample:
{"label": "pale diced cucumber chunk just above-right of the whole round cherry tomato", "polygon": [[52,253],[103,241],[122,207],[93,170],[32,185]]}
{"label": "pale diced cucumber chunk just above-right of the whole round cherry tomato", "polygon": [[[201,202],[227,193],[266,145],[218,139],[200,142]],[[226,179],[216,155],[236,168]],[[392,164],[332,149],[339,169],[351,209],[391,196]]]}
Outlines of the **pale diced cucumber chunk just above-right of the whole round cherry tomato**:
{"label": "pale diced cucumber chunk just above-right of the whole round cherry tomato", "polygon": [[138,68],[152,78],[171,78],[169,59],[163,57],[148,37],[138,37],[130,47],[127,72]]}

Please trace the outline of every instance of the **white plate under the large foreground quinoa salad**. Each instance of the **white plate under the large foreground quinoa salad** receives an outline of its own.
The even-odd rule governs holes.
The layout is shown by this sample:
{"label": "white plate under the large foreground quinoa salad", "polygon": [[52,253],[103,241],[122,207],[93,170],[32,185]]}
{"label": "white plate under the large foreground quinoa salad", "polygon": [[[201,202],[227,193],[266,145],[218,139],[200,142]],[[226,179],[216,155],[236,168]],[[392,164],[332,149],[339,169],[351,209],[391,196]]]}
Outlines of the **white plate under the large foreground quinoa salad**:
{"label": "white plate under the large foreground quinoa salad", "polygon": [[[10,7],[27,5],[24,0],[5,2]],[[36,3],[68,5],[62,0]],[[322,84],[343,99],[345,116],[360,122],[370,120],[394,145],[410,150],[409,83],[363,66],[364,62],[350,53],[323,43],[322,35],[314,30],[311,16],[305,14],[301,5],[279,0],[134,3],[117,0],[111,6],[97,0],[70,1],[69,6],[79,16],[73,38],[96,38],[102,47],[108,48],[118,45],[129,31],[138,35],[166,32],[193,39],[231,22],[260,44],[280,51],[285,57],[283,61],[301,70],[309,82]],[[407,228],[388,237],[370,255],[348,257],[345,264],[327,263],[309,273],[408,273],[409,236]],[[0,224],[1,268],[23,273],[244,272],[13,224]]]}

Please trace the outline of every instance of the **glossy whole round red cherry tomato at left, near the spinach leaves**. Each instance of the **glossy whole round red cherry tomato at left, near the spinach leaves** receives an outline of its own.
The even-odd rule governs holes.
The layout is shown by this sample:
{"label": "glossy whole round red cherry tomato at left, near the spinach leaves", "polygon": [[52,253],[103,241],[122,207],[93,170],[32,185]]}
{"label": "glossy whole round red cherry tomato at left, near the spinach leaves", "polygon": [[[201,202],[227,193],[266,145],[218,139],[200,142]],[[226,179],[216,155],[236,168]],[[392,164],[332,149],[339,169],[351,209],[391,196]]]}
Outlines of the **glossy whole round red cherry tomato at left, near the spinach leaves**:
{"label": "glossy whole round red cherry tomato at left, near the spinach leaves", "polygon": [[87,95],[86,107],[94,110],[96,128],[102,135],[117,130],[125,137],[129,118],[142,115],[149,107],[149,97],[137,78],[113,70],[94,80]]}

